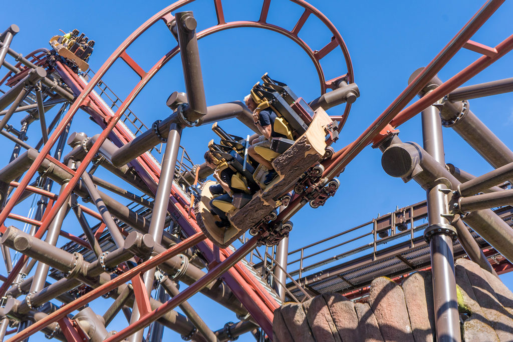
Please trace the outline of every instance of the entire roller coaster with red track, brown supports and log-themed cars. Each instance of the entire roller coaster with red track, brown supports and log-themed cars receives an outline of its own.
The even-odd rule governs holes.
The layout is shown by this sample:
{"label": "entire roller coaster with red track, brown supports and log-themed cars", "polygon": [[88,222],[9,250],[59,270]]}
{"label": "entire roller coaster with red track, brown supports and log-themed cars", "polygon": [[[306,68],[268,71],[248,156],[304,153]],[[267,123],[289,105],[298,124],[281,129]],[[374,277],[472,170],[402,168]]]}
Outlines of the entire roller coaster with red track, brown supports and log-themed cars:
{"label": "entire roller coaster with red track, brown supports and log-themed cars", "polygon": [[[89,63],[101,38],[87,37],[87,24],[84,32],[37,42],[45,47],[28,54],[14,50],[20,29],[9,26],[0,35],[0,133],[5,150],[13,146],[0,169],[2,340],[44,334],[152,342],[167,329],[195,341],[287,340],[273,331],[286,303],[306,305],[331,293],[366,303],[373,280],[400,283],[421,270],[432,274],[432,340],[469,340],[460,329],[455,260],[468,258],[496,277],[511,271],[513,261],[513,152],[468,101],[510,92],[513,78],[462,86],[513,49],[512,35],[494,47],[471,40],[503,2],[486,2],[347,146],[337,142],[349,134],[344,127],[360,97],[349,50],[328,17],[303,0],[288,2],[302,13],[291,29],[268,22],[270,0],[261,2],[254,21],[227,21],[224,0],[214,0],[216,24],[203,30],[189,10],[196,2],[178,1],[137,28],[96,72]],[[331,36],[318,50],[300,38],[312,18]],[[129,52],[156,27],[165,28],[174,47],[145,71],[146,61]],[[207,106],[198,41],[241,28],[297,44],[314,66],[320,96],[303,98],[266,73],[247,91],[254,111],[236,99]],[[442,81],[437,73],[463,49],[479,57]],[[339,55],[333,78],[321,66],[331,52]],[[168,113],[146,122],[130,107],[177,55],[185,87],[168,96]],[[118,90],[107,86],[106,75],[119,65],[135,82]],[[126,97],[116,95],[126,89]],[[330,115],[334,107],[342,114]],[[267,109],[281,137],[262,147],[253,143],[263,134],[255,117]],[[19,112],[26,115],[18,125]],[[73,125],[84,112],[95,129]],[[422,146],[402,142],[398,127],[419,113]],[[247,132],[222,128],[234,119]],[[182,146],[183,132],[204,125],[216,137],[204,147],[210,162],[191,158]],[[476,177],[446,163],[442,128],[459,134],[493,170]],[[327,215],[323,206],[343,196],[337,177],[369,145],[382,152],[388,175],[418,183],[426,200],[289,251],[289,235],[300,226],[294,228],[294,215],[305,206]],[[251,157],[251,148],[273,170]],[[229,189],[216,193],[226,170]],[[209,327],[188,301],[200,293],[239,321]]]}

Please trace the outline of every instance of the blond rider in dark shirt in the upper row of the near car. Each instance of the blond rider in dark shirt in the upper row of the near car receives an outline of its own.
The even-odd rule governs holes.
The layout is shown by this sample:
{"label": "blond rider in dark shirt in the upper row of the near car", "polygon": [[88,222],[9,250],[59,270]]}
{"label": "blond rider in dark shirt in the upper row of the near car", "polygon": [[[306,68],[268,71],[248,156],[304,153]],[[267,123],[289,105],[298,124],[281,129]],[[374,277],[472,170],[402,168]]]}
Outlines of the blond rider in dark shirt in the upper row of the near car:
{"label": "blond rider in dark shirt in the upper row of the near car", "polygon": [[271,139],[272,138],[286,138],[285,135],[277,133],[274,131],[274,120],[278,117],[274,111],[268,107],[262,110],[257,110],[257,103],[254,101],[251,94],[246,95],[244,97],[244,103],[249,108],[250,111],[253,112],[253,119],[254,123],[259,129],[259,131],[262,133],[261,136],[254,139],[251,142],[251,146],[248,149],[248,154],[256,160],[258,163],[265,166],[269,172],[267,173],[264,184],[269,184],[272,182],[272,179],[277,175],[276,171],[274,171],[274,168],[272,167],[269,160],[262,157],[260,154],[258,154],[254,147],[255,146],[262,146],[266,148],[271,148]]}

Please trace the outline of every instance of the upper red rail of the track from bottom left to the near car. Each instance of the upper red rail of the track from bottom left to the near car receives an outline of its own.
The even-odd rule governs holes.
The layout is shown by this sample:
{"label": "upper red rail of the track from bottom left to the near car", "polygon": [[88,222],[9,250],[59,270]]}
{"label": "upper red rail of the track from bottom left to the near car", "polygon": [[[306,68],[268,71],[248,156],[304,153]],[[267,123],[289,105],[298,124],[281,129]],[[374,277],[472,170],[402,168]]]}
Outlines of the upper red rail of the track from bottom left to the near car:
{"label": "upper red rail of the track from bottom left to the near car", "polygon": [[77,298],[73,300],[71,303],[66,304],[65,306],[61,307],[57,311],[52,312],[45,318],[38,320],[31,326],[27,327],[23,331],[17,333],[16,335],[9,338],[8,342],[15,342],[15,341],[21,341],[28,336],[33,335],[34,333],[40,331],[44,327],[46,327],[48,324],[59,320],[63,317],[65,317],[68,313],[82,307],[84,304],[89,303],[91,300],[96,299],[100,297],[102,294],[105,294],[116,287],[125,284],[127,281],[132,279],[135,275],[141,274],[145,271],[148,271],[149,269],[152,269],[164,261],[172,258],[175,255],[180,254],[184,250],[191,248],[192,246],[198,244],[202,240],[206,238],[205,234],[198,233],[194,234],[191,237],[186,238],[181,243],[174,245],[173,247],[167,249],[165,252],[160,253],[159,255],[156,255],[155,257],[144,261],[144,263],[137,265],[136,267],[126,271],[125,273],[115,277],[114,279],[108,281],[107,283],[97,287],[96,289],[91,290],[90,292],[86,293],[80,298]]}

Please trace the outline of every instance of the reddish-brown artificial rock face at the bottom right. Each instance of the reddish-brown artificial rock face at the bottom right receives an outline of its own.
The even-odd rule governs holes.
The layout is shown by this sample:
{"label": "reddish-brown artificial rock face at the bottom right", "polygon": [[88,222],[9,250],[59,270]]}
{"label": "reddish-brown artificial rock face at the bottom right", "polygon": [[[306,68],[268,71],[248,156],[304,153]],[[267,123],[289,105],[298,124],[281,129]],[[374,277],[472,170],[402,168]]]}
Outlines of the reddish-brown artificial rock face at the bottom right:
{"label": "reddish-brown artificial rock face at the bottom right", "polygon": [[[408,276],[399,285],[372,281],[368,303],[325,293],[274,311],[274,341],[434,341],[431,272]],[[465,342],[513,341],[513,293],[491,273],[467,259],[456,262],[458,307]]]}

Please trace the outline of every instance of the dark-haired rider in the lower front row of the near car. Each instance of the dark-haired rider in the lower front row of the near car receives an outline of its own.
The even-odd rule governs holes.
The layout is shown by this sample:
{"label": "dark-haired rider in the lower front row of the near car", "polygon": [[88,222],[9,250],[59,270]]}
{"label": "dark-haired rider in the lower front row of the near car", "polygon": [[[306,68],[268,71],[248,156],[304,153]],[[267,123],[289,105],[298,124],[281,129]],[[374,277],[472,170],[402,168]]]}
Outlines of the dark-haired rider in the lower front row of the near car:
{"label": "dark-haired rider in the lower front row of the near car", "polygon": [[244,191],[231,187],[231,177],[235,174],[235,171],[233,171],[230,167],[227,167],[219,171],[218,165],[215,163],[214,157],[212,156],[212,154],[210,154],[209,151],[205,153],[204,157],[207,166],[211,169],[214,169],[213,176],[219,182],[219,184],[211,185],[209,187],[210,193],[213,196],[216,196],[212,198],[212,200],[210,200],[210,208],[212,208],[211,212],[215,215],[218,215],[219,218],[221,218],[220,221],[215,222],[215,225],[219,228],[230,227],[231,223],[228,220],[226,213],[218,207],[214,206],[212,201],[215,199],[231,203],[233,200],[232,196],[234,193],[241,193]]}

